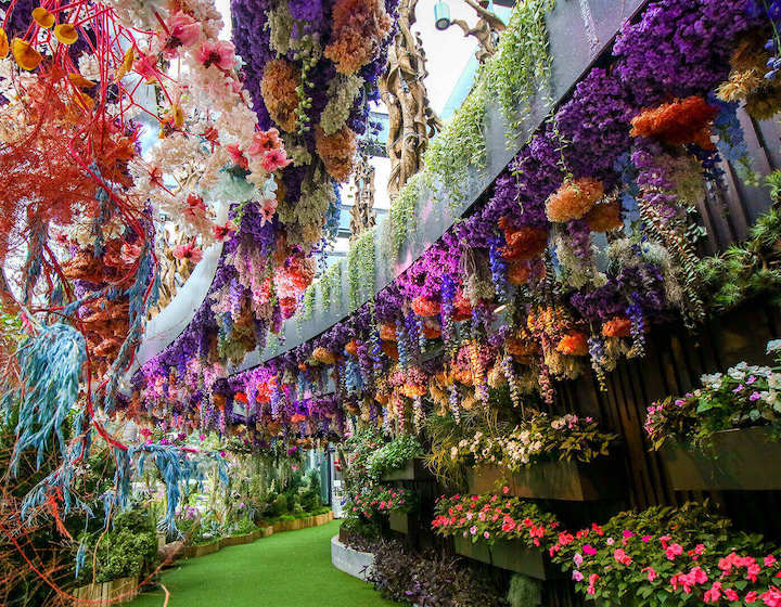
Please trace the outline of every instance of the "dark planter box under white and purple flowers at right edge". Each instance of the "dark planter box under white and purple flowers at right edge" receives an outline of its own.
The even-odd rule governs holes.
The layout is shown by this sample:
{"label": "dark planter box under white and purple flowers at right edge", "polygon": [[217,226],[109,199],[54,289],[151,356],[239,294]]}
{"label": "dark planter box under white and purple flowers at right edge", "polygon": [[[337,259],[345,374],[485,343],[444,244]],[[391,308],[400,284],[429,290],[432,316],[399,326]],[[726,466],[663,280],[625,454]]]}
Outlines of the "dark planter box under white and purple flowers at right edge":
{"label": "dark planter box under white and purple flowers at right edge", "polygon": [[764,427],[716,432],[703,450],[668,442],[661,453],[676,491],[781,489],[781,442]]}

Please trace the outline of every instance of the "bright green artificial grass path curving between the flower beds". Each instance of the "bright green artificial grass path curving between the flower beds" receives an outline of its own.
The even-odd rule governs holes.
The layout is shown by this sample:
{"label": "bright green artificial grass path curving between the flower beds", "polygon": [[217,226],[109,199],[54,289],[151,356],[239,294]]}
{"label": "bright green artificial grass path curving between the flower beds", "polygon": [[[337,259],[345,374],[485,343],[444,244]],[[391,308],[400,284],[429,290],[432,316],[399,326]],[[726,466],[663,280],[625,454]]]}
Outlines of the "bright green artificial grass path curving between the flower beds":
{"label": "bright green artificial grass path curving between the flower beds", "polygon": [[[331,538],[340,521],[274,533],[241,546],[182,559],[163,574],[168,607],[375,607],[372,586],[331,565]],[[162,607],[161,589],[130,607]]]}

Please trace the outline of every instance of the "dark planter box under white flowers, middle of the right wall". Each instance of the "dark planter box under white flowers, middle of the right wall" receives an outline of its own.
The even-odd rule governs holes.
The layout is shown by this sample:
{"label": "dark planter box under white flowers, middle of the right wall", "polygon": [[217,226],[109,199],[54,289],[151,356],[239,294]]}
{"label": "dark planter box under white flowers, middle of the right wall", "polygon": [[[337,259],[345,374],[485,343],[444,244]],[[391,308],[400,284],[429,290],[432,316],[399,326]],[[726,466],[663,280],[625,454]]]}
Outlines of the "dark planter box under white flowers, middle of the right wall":
{"label": "dark planter box under white flowers, middle of the right wall", "polygon": [[482,466],[470,470],[469,488],[476,494],[497,493],[502,481],[510,488],[510,495],[516,498],[585,502],[617,495],[619,478],[615,461],[599,457],[588,464],[564,461],[533,464],[517,473]]}

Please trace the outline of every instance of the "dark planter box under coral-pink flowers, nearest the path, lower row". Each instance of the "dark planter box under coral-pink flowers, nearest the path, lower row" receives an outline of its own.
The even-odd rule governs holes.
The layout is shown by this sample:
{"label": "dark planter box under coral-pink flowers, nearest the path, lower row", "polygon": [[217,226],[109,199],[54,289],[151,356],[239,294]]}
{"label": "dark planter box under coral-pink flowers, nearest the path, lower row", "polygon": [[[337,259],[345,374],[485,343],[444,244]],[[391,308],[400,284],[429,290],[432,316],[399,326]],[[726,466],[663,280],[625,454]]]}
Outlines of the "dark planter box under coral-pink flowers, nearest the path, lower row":
{"label": "dark planter box under coral-pink flowers, nearest the path, lower row", "polygon": [[472,543],[471,538],[461,535],[457,535],[453,540],[456,552],[468,558],[538,580],[562,577],[561,571],[546,559],[541,550],[527,548],[521,540],[497,540],[494,544],[483,540]]}

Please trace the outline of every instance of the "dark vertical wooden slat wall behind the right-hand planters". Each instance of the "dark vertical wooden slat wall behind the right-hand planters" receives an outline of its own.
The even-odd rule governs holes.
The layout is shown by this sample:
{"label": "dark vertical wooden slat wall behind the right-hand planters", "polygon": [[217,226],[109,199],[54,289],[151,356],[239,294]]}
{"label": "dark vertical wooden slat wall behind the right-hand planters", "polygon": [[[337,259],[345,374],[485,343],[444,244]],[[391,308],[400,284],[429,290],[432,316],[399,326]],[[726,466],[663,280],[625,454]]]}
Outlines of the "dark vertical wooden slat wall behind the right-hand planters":
{"label": "dark vertical wooden slat wall behind the right-hand planters", "polygon": [[[742,115],[741,124],[755,170],[767,175],[781,167],[781,129],[776,122],[758,124]],[[724,168],[724,183],[708,184],[708,199],[700,209],[708,230],[702,245],[705,255],[745,238],[748,228],[770,205],[765,190],[744,185],[731,167]],[[656,327],[648,336],[644,358],[624,361],[607,374],[606,392],[599,390],[591,374],[558,386],[558,412],[592,415],[622,436],[619,456],[626,474],[623,506],[645,508],[708,499],[737,526],[781,541],[781,519],[773,516],[781,505],[781,492],[675,492],[660,457],[648,450],[642,427],[651,402],[686,393],[699,385],[702,374],[722,371],[741,360],[769,363],[765,345],[779,336],[780,325],[781,317],[774,310],[753,302],[712,319],[696,334],[677,324]],[[606,512],[604,518],[610,514]]]}

